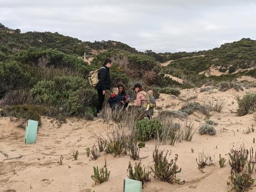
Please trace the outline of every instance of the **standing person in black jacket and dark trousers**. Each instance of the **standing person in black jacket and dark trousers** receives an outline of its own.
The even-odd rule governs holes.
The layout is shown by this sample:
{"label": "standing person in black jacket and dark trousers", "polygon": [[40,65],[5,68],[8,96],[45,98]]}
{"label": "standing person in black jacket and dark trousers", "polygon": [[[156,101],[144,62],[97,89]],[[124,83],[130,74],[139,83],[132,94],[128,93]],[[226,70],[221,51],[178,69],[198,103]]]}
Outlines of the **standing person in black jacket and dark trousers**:
{"label": "standing person in black jacket and dark trousers", "polygon": [[110,74],[109,68],[111,67],[112,61],[106,59],[103,63],[103,67],[99,69],[98,78],[99,82],[95,86],[98,91],[98,105],[97,105],[97,117],[100,114],[102,105],[105,99],[106,90],[110,90]]}

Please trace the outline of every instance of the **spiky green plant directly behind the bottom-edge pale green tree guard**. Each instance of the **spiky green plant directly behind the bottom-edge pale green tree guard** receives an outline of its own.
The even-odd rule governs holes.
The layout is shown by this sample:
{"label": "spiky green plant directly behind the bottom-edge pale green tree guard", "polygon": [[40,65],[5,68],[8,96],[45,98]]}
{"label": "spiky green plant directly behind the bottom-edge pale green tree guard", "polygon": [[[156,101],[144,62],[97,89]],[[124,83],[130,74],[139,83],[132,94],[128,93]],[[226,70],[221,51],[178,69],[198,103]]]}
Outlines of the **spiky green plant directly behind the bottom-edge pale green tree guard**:
{"label": "spiky green plant directly behind the bottom-edge pale green tree guard", "polygon": [[127,176],[129,179],[141,181],[142,185],[144,185],[146,182],[150,182],[149,171],[146,171],[145,167],[141,166],[141,162],[138,164],[135,163],[134,165],[129,162]]}

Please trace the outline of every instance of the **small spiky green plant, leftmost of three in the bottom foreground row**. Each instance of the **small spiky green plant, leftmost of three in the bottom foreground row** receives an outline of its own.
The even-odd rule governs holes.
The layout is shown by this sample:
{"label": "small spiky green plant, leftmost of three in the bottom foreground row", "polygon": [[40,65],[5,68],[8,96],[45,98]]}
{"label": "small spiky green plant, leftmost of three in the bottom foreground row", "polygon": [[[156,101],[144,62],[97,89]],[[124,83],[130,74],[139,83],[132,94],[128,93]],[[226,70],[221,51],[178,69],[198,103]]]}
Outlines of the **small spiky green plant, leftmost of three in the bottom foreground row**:
{"label": "small spiky green plant, leftmost of three in the bottom foreground row", "polygon": [[91,175],[91,178],[95,181],[95,184],[107,181],[110,175],[110,171],[108,172],[106,159],[105,165],[101,167],[101,169],[99,169],[98,166],[93,166],[93,172],[94,174]]}

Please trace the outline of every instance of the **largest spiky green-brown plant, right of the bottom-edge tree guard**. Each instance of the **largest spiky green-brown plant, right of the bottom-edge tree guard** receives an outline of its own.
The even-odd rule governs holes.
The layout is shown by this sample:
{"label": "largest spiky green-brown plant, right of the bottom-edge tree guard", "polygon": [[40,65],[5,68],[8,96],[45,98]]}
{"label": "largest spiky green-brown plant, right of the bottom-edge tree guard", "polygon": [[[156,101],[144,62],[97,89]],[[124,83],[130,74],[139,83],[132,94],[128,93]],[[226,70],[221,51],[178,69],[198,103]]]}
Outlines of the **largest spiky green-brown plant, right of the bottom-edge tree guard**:
{"label": "largest spiky green-brown plant, right of the bottom-edge tree guard", "polygon": [[179,182],[176,179],[176,174],[181,172],[177,165],[178,155],[176,154],[174,159],[169,161],[171,151],[167,150],[165,155],[164,151],[159,153],[158,149],[153,152],[154,167],[150,167],[154,173],[154,177],[165,182]]}

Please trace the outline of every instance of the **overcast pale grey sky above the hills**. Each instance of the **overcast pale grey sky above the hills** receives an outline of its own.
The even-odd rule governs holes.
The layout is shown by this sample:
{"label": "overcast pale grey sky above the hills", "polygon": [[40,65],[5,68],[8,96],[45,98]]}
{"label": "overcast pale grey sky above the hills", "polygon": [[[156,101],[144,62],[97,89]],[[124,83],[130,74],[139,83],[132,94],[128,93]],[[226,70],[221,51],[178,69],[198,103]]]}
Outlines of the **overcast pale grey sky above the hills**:
{"label": "overcast pale grey sky above the hills", "polygon": [[114,40],[139,51],[199,51],[256,39],[251,0],[0,0],[0,22],[82,41]]}

